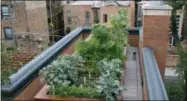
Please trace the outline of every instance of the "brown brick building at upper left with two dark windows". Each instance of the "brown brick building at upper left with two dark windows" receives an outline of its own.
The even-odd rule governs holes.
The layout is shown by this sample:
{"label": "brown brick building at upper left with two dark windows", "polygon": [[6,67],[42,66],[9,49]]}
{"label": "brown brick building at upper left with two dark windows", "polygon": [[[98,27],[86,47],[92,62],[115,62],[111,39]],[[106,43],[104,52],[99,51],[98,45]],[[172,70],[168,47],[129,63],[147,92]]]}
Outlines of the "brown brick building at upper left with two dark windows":
{"label": "brown brick building at upper left with two dark windows", "polygon": [[[7,47],[17,43],[18,47],[28,46],[28,41],[25,39],[30,38],[34,43],[42,41],[43,47],[47,47],[50,42],[51,30],[49,23],[51,18],[53,23],[58,19],[61,11],[55,12],[56,5],[61,5],[60,1],[51,2],[47,1],[2,1],[1,4],[1,40]],[[50,10],[51,9],[51,10]],[[50,12],[51,11],[51,12]],[[55,13],[53,13],[55,12]],[[53,13],[53,14],[51,14]],[[52,16],[50,16],[50,14]],[[61,22],[59,22],[61,23]],[[54,24],[54,30],[60,29],[59,23]],[[63,25],[63,24],[62,24]],[[53,34],[53,33],[52,33]],[[14,40],[16,39],[16,41]]]}

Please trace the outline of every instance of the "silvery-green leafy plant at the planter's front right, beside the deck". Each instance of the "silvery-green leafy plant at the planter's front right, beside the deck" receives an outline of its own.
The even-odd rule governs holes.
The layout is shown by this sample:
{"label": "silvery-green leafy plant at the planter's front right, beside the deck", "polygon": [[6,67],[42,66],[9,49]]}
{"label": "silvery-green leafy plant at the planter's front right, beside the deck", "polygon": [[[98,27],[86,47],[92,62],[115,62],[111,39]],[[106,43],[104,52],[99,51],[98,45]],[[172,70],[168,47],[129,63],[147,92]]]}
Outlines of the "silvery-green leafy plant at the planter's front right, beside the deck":
{"label": "silvery-green leafy plant at the planter's front right, beside the deck", "polygon": [[120,91],[124,89],[119,79],[123,71],[122,61],[119,59],[111,61],[104,59],[98,63],[98,66],[101,76],[97,81],[98,85],[96,85],[96,88],[102,96],[105,96],[106,100],[117,100]]}

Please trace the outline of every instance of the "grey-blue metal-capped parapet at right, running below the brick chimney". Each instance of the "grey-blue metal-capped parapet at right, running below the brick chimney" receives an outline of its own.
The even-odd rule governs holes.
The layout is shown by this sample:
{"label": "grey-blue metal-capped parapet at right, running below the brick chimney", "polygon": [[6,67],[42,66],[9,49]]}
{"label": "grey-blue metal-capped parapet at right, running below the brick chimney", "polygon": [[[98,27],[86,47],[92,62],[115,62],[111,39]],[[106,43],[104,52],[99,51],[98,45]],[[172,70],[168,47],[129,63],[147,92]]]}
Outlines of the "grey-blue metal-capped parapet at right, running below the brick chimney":
{"label": "grey-blue metal-capped parapet at right, running below the brick chimney", "polygon": [[148,100],[168,100],[158,65],[150,47],[142,48]]}

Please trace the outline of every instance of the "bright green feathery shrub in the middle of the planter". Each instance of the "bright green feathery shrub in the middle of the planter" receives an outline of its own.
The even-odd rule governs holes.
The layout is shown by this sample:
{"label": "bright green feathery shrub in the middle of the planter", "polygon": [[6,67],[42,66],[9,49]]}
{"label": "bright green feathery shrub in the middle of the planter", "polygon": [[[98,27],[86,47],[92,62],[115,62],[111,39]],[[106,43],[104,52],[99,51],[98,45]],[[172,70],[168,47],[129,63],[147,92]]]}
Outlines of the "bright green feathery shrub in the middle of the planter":
{"label": "bright green feathery shrub in the middle of the planter", "polygon": [[[99,34],[98,34],[99,33]],[[88,42],[80,41],[76,45],[76,52],[82,56],[89,69],[98,74],[96,62],[106,59],[123,59],[123,43],[113,38],[114,34],[105,26],[98,25],[92,30],[93,37]]]}

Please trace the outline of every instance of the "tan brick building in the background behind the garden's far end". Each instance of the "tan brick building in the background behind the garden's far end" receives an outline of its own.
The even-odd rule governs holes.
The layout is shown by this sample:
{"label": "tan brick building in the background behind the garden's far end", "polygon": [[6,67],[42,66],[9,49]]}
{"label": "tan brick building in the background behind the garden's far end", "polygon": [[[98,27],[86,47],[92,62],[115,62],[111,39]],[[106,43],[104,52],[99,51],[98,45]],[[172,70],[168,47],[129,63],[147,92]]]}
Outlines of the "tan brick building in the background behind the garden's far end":
{"label": "tan brick building in the background behind the garden's far end", "polygon": [[107,23],[120,9],[128,13],[129,26],[134,26],[134,1],[75,1],[64,5],[64,28]]}

